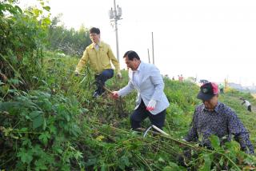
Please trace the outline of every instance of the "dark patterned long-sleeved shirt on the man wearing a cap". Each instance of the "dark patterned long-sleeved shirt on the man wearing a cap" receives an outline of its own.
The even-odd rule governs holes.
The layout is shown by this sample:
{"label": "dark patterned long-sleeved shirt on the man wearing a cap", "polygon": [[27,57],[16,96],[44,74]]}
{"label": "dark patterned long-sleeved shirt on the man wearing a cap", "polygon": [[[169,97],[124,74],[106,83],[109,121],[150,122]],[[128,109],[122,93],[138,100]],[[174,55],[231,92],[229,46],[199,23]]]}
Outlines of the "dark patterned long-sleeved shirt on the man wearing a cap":
{"label": "dark patterned long-sleeved shirt on the man wearing a cap", "polygon": [[246,128],[234,111],[222,102],[218,102],[213,111],[206,109],[204,104],[196,107],[191,129],[185,140],[198,141],[199,137],[202,137],[202,145],[210,147],[208,137],[211,134],[218,136],[222,142],[230,141],[234,135],[242,150],[254,153],[254,146],[250,142]]}

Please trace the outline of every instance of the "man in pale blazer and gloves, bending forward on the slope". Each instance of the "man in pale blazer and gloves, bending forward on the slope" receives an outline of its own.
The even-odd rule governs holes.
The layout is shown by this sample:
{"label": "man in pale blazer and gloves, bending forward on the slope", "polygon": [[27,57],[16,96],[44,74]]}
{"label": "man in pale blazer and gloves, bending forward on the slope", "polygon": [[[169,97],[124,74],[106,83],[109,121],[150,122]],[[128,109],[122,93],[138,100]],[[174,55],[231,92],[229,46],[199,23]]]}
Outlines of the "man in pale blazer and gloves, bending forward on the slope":
{"label": "man in pale blazer and gloves, bending forward on the slope", "polygon": [[130,116],[132,129],[140,128],[141,122],[146,117],[150,118],[152,125],[162,129],[166,118],[166,108],[170,104],[163,92],[164,82],[158,68],[142,62],[133,50],[127,51],[123,58],[129,68],[129,82],[122,89],[112,92],[113,97],[124,97],[136,89],[138,92],[136,107]]}

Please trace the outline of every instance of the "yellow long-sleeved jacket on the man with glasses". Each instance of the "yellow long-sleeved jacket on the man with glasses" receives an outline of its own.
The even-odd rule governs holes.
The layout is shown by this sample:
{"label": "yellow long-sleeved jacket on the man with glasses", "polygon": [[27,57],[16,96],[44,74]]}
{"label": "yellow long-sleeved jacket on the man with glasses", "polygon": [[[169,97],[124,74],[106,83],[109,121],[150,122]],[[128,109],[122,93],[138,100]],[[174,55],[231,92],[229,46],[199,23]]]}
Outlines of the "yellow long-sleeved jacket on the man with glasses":
{"label": "yellow long-sleeved jacket on the man with glasses", "polygon": [[90,68],[94,70],[96,74],[101,74],[103,70],[112,69],[111,63],[113,63],[115,70],[117,73],[120,72],[120,66],[117,58],[114,57],[110,46],[105,42],[99,43],[98,50],[95,49],[94,43],[90,44],[90,46],[86,47],[82,58],[78,62],[78,66],[76,67],[76,71],[80,73],[82,68],[86,65],[87,62],[90,63]]}

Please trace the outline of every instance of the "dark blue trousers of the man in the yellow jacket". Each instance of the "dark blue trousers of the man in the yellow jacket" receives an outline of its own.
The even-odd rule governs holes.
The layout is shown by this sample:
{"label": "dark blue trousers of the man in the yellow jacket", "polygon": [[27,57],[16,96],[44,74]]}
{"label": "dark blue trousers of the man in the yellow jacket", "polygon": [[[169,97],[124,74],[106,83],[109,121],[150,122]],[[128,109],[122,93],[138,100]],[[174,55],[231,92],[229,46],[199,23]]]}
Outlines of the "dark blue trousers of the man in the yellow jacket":
{"label": "dark blue trousers of the man in the yellow jacket", "polygon": [[95,92],[97,92],[98,95],[101,95],[105,91],[105,89],[103,89],[105,82],[108,79],[113,78],[113,76],[114,76],[114,70],[112,69],[103,70],[101,74],[95,75],[95,80],[97,85],[97,89],[95,90]]}

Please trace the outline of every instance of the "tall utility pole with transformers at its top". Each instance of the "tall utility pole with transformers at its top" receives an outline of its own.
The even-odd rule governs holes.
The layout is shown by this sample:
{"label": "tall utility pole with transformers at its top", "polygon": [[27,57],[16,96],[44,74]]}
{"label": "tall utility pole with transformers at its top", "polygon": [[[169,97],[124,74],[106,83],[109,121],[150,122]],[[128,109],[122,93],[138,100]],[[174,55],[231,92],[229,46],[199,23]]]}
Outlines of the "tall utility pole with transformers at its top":
{"label": "tall utility pole with transformers at its top", "polygon": [[118,62],[119,62],[118,20],[122,19],[121,16],[122,16],[122,9],[119,6],[115,5],[115,0],[114,0],[114,10],[112,8],[111,8],[111,10],[109,10],[109,17],[110,17],[110,22],[111,23],[114,22],[115,41],[116,41],[116,46],[117,46]]}

